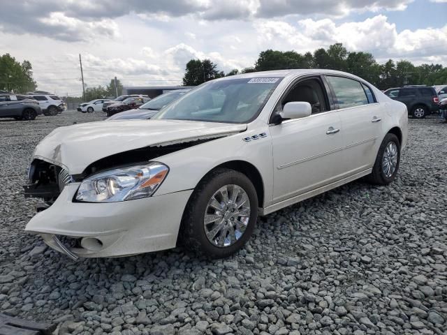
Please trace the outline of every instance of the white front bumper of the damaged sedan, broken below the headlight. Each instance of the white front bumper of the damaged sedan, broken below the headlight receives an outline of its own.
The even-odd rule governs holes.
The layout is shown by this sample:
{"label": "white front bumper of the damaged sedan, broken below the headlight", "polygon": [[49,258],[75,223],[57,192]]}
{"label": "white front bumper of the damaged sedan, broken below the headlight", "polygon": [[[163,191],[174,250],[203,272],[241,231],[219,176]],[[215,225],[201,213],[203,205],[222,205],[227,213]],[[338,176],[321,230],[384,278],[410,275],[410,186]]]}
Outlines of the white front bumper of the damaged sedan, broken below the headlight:
{"label": "white front bumper of the damaged sedan, broken below the headlight", "polygon": [[50,207],[31,218],[25,230],[40,234],[48,246],[73,260],[175,247],[192,190],[123,202],[73,202],[79,185],[66,185]]}

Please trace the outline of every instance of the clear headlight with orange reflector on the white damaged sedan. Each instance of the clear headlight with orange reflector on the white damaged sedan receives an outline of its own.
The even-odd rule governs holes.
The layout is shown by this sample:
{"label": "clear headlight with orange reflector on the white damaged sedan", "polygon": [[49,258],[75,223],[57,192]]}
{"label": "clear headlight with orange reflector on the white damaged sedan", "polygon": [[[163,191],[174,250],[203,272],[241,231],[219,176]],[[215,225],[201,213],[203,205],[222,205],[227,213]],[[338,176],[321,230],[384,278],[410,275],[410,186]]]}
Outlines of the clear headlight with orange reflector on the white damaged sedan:
{"label": "clear headlight with orange reflector on the white damaged sedan", "polygon": [[155,193],[168,172],[166,165],[152,162],[94,174],[82,181],[76,200],[119,202],[147,198]]}

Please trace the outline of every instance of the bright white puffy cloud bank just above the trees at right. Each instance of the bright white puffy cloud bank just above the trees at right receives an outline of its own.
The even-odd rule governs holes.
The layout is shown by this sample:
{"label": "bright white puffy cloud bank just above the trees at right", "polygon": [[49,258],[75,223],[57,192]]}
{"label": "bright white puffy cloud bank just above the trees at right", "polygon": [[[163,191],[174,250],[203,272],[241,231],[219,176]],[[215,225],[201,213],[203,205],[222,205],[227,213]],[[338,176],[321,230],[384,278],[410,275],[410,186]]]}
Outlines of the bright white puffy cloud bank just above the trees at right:
{"label": "bright white puffy cloud bank just above the trees at right", "polygon": [[371,52],[378,59],[432,57],[447,62],[447,25],[440,29],[406,29],[398,33],[395,24],[388,22],[386,16],[376,15],[362,22],[342,24],[330,19],[305,19],[293,26],[264,20],[256,24],[256,29],[261,45],[279,50],[306,52],[343,43],[350,51]]}

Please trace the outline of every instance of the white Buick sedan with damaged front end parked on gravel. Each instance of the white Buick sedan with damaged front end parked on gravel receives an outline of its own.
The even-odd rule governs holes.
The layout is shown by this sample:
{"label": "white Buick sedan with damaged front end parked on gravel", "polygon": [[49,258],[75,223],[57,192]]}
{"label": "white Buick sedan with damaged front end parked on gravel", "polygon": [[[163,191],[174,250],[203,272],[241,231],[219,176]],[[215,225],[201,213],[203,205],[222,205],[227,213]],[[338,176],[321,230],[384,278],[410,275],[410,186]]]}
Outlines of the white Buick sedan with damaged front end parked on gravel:
{"label": "white Buick sedan with damaged front end parked on gravel", "polygon": [[213,80],[150,120],[57,128],[36,147],[26,230],[78,257],[244,246],[259,215],[367,176],[395,179],[407,112],[359,77],[277,70]]}

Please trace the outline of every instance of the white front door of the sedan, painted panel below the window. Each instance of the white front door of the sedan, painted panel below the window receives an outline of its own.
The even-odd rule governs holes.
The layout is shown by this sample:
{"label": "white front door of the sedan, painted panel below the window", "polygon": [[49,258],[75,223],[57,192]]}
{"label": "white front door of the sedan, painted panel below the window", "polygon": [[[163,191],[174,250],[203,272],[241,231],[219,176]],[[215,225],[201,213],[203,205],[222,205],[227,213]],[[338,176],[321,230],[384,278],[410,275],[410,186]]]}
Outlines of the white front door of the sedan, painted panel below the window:
{"label": "white front door of the sedan, painted panel below the window", "polygon": [[[338,131],[337,131],[338,130]],[[344,177],[342,122],[337,111],[270,126],[273,146],[273,202]]]}

